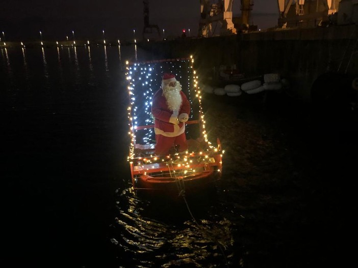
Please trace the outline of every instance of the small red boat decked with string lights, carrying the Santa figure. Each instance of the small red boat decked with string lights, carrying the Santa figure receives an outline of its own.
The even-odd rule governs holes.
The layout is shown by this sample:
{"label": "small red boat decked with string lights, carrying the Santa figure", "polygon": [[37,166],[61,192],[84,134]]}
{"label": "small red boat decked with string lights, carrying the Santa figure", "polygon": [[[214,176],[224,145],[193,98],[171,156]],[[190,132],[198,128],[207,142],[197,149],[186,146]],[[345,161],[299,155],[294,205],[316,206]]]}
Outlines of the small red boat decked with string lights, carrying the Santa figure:
{"label": "small red boat decked with string lights, carrying the Santa figure", "polygon": [[[205,130],[198,76],[194,59],[176,58],[126,64],[130,127],[130,163],[135,193],[184,195],[213,186],[221,178],[222,155],[219,138],[213,145]],[[163,73],[173,73],[182,84],[182,91],[191,103],[186,122],[189,148],[179,154],[173,147],[169,155],[155,155],[152,95],[161,87]]]}

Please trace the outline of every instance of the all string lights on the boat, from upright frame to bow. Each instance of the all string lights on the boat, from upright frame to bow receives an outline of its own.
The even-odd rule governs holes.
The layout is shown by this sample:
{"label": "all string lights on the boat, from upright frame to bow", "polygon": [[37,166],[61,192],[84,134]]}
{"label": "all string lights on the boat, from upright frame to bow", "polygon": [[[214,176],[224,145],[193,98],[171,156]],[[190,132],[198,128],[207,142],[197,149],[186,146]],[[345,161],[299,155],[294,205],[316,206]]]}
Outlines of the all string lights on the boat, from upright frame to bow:
{"label": "all string lights on the boat, from upright frame to bow", "polygon": [[[163,172],[163,165],[170,171],[170,164],[175,165],[171,172],[175,176],[192,176],[203,170],[209,169],[210,165],[219,165],[216,172],[220,172],[222,164],[221,144],[214,147],[208,140],[201,105],[201,91],[198,85],[198,76],[194,70],[193,56],[183,59],[171,59],[170,61],[158,60],[144,63],[126,63],[127,90],[129,92],[130,106],[127,108],[129,118],[130,150],[128,161],[136,174],[148,175],[147,172]],[[163,68],[165,67],[165,68]],[[164,71],[165,70],[165,71]],[[154,118],[151,114],[152,96],[161,87],[164,72],[171,72],[177,80],[183,81],[182,88],[191,103],[190,120],[197,122],[199,131],[204,139],[204,150],[200,152],[185,152],[184,155],[139,157],[137,150],[143,150],[154,154],[155,133]],[[185,80],[185,78],[187,78]],[[186,81],[186,82],[184,82]],[[184,84],[185,83],[185,84]],[[192,90],[194,92],[192,92]],[[193,107],[199,107],[198,111]],[[140,108],[139,108],[140,107]],[[145,171],[146,170],[146,171]],[[175,172],[177,171],[177,172]]]}

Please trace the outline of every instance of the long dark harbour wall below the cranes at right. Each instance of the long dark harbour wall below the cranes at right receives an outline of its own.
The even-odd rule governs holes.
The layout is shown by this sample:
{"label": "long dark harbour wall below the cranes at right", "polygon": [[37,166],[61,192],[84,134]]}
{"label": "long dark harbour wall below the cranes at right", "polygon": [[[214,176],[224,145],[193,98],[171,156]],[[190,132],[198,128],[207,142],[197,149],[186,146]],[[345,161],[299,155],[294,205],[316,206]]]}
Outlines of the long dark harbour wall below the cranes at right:
{"label": "long dark harbour wall below the cranes at right", "polygon": [[205,82],[212,79],[214,83],[223,65],[236,65],[245,77],[278,73],[289,81],[289,94],[309,102],[311,86],[321,74],[333,71],[358,76],[357,41],[358,26],[344,25],[138,45],[152,51],[154,58],[193,55]]}

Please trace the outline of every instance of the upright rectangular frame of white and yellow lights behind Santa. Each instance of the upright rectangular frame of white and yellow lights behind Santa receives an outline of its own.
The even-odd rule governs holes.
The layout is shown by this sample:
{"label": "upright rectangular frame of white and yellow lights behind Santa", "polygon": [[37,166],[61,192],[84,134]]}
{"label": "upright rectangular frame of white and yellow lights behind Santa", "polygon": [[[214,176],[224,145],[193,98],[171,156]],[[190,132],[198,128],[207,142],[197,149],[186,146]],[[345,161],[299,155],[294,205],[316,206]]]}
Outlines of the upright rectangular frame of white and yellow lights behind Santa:
{"label": "upright rectangular frame of white and yellow lights behind Santa", "polygon": [[[129,156],[128,161],[132,162],[136,156],[135,156],[135,145],[136,145],[136,131],[138,129],[146,129],[148,130],[149,135],[154,133],[153,124],[154,122],[150,119],[151,116],[151,102],[152,102],[152,96],[154,93],[160,88],[161,80],[162,80],[162,73],[161,72],[154,72],[154,68],[162,68],[160,67],[160,64],[170,64],[172,62],[175,62],[176,64],[179,64],[178,66],[181,67],[181,62],[187,62],[188,64],[188,70],[183,71],[187,72],[188,75],[188,84],[184,84],[183,77],[176,73],[175,70],[172,71],[174,75],[176,75],[177,79],[181,81],[184,88],[186,87],[188,92],[186,93],[188,96],[189,101],[192,103],[193,100],[195,100],[198,104],[198,121],[199,121],[199,127],[201,131],[201,137],[204,138],[204,141],[208,144],[211,151],[217,152],[218,148],[214,148],[211,145],[211,142],[208,141],[206,129],[205,129],[205,121],[204,121],[204,114],[202,111],[202,105],[201,105],[201,92],[198,85],[198,76],[196,71],[194,70],[194,59],[193,56],[190,56],[189,58],[177,58],[177,59],[165,59],[165,60],[158,60],[158,61],[149,61],[144,63],[134,63],[130,64],[128,61],[126,62],[126,80],[128,82],[127,90],[129,92],[130,97],[130,106],[127,108],[128,111],[128,118],[129,118],[129,135],[130,135],[130,150],[129,150]],[[136,76],[137,74],[138,77]],[[154,77],[154,75],[157,75],[158,77]],[[160,75],[160,77],[159,77]],[[192,79],[192,80],[190,80]],[[137,96],[135,96],[135,88],[136,86],[146,86],[145,92],[143,92],[143,96],[141,96],[142,100],[140,104],[142,105],[144,103],[144,108],[142,109],[139,107]],[[194,92],[192,92],[194,90]],[[142,113],[142,114],[140,114]],[[143,116],[144,113],[144,116]],[[192,115],[191,115],[192,116]],[[145,128],[145,126],[148,126],[148,128]],[[142,142],[149,144],[150,137],[144,136],[142,138]],[[186,155],[183,157],[187,157],[194,152],[186,152]],[[200,155],[203,154],[203,152],[199,153]],[[180,158],[180,156],[176,156],[177,158]],[[151,159],[147,158],[145,159],[146,163],[151,163],[152,160],[162,160],[167,161],[170,159],[170,156],[165,157],[156,157],[151,156]],[[162,159],[160,159],[162,158]],[[142,159],[143,161],[143,159]]]}

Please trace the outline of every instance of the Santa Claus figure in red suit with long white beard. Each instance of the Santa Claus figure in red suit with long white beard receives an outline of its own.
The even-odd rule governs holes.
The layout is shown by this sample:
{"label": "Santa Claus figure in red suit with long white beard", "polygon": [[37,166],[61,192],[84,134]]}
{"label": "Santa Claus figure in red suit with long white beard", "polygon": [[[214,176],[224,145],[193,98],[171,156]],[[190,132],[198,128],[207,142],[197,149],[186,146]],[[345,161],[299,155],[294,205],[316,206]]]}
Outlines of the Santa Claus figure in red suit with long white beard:
{"label": "Santa Claus figure in red suit with long white beard", "polygon": [[178,147],[179,153],[185,152],[190,103],[173,74],[163,75],[162,88],[153,96],[151,112],[155,117],[156,155],[168,155],[173,146]]}

